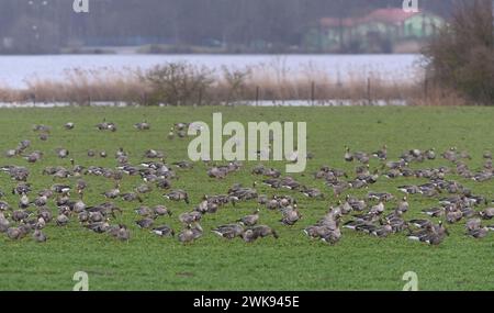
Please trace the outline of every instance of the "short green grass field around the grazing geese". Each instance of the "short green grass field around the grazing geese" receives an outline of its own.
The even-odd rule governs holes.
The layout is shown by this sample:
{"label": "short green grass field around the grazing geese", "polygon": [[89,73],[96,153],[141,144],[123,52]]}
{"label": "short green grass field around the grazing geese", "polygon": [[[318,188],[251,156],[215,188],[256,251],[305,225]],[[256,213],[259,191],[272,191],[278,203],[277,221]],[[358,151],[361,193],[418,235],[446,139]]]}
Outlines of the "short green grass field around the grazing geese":
{"label": "short green grass field around the grazing geese", "polygon": [[[209,232],[214,226],[233,222],[250,213],[255,201],[240,202],[236,208],[227,205],[216,214],[207,214],[202,221],[205,235],[191,245],[182,245],[175,238],[159,238],[137,228],[134,209],[138,203],[115,201],[124,213],[117,221],[128,225],[132,238],[121,243],[109,235],[92,233],[79,225],[76,219],[67,227],[53,224],[45,228],[48,241],[36,244],[31,236],[13,242],[0,235],[0,290],[71,290],[76,271],[89,273],[90,290],[401,290],[406,271],[418,275],[420,290],[492,290],[494,288],[494,235],[484,239],[464,236],[463,223],[448,225],[451,235],[439,246],[411,242],[404,234],[375,238],[344,230],[344,237],[335,246],[311,241],[302,230],[315,223],[330,203],[336,203],[332,190],[323,180],[314,180],[312,174],[321,166],[352,171],[356,164],[343,160],[345,145],[352,149],[372,152],[383,144],[389,147],[389,158],[397,158],[411,148],[435,147],[442,152],[450,146],[469,150],[473,159],[471,169],[482,165],[484,149],[494,149],[494,111],[489,108],[70,108],[0,110],[0,149],[14,148],[22,139],[32,141],[32,149],[43,150],[45,157],[30,165],[34,190],[47,188],[53,178],[42,176],[46,166],[69,167],[69,160],[56,158],[54,149],[68,148],[76,164],[99,165],[113,168],[114,152],[123,147],[131,155],[131,163],[144,160],[148,148],[162,149],[167,161],[188,159],[189,139],[167,138],[169,127],[176,122],[211,122],[213,112],[222,112],[223,120],[242,121],[305,121],[307,122],[308,150],[315,158],[308,161],[305,174],[293,177],[326,193],[326,200],[306,199],[295,191],[278,191],[266,186],[257,187],[259,193],[292,194],[299,200],[304,215],[292,227],[281,225],[279,212],[261,210],[261,223],[273,226],[280,238],[272,237],[246,244],[240,239],[226,241]],[[115,133],[99,132],[94,125],[106,118],[115,122]],[[133,127],[147,120],[148,132]],[[66,122],[75,122],[76,128],[65,131]],[[52,126],[47,142],[37,139],[33,124]],[[89,148],[105,149],[109,158],[88,158]],[[0,165],[24,165],[22,158],[0,157]],[[179,180],[173,188],[189,191],[191,204],[170,202],[162,191],[155,189],[145,195],[145,204],[164,203],[172,211],[172,217],[160,217],[158,224],[170,224],[179,230],[178,213],[192,210],[203,194],[225,193],[234,182],[251,186],[250,175],[257,163],[245,163],[244,168],[224,180],[206,176],[206,166],[197,164],[192,170],[178,170]],[[272,164],[284,170],[284,164]],[[371,167],[379,161],[373,159]],[[448,165],[435,161],[413,164],[414,168]],[[494,182],[478,183],[457,179],[475,193],[494,199]],[[68,179],[74,183],[77,178]],[[86,177],[89,188],[85,201],[99,204],[100,195],[113,183],[101,177]],[[63,180],[64,181],[64,180]],[[420,183],[426,180],[381,178],[371,187],[373,191],[389,191],[401,195],[396,187],[403,183]],[[131,191],[142,183],[141,178],[125,177],[122,191]],[[19,199],[9,191],[15,182],[7,174],[0,174],[0,189],[5,199],[16,204]],[[352,191],[363,195],[366,190]],[[34,197],[34,193],[32,194]],[[437,204],[437,200],[420,195],[411,197],[411,211],[406,219],[423,217],[422,209]],[[389,205],[392,206],[391,204]],[[54,212],[56,208],[50,203]]]}

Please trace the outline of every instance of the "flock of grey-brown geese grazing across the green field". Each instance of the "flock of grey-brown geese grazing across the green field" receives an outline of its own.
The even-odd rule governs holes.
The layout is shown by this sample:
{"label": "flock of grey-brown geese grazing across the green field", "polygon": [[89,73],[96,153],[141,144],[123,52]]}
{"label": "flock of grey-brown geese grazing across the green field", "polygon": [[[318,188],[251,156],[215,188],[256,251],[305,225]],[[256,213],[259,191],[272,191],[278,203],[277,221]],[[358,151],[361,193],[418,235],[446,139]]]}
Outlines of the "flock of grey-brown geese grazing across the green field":
{"label": "flock of grey-brown geese grazing across the green field", "polygon": [[[149,123],[143,122],[134,125],[138,131],[150,128]],[[64,125],[66,131],[76,127],[74,123]],[[116,132],[114,123],[103,121],[96,126],[99,131]],[[168,133],[168,138],[176,136],[186,137],[188,123],[177,123]],[[35,125],[33,131],[38,134],[41,141],[47,141],[50,127]],[[30,150],[31,142],[22,141],[16,148],[9,149],[5,156],[9,158],[25,158],[29,164],[40,161],[44,153]],[[60,159],[70,158],[70,152],[65,148],[56,149],[56,156]],[[106,158],[109,154],[104,150],[88,150],[88,158],[97,156]],[[172,189],[173,180],[177,179],[176,169],[189,170],[193,164],[187,160],[167,164],[165,154],[160,150],[149,149],[144,153],[147,161],[132,165],[128,155],[120,148],[115,152],[114,158],[116,167],[104,168],[100,166],[83,167],[75,164],[70,159],[71,166],[52,166],[43,169],[42,175],[52,176],[54,181],[65,181],[76,177],[74,183],[54,183],[47,189],[34,192],[30,183],[31,171],[25,166],[7,165],[0,170],[8,174],[16,186],[12,189],[12,194],[19,197],[19,202],[8,203],[2,201],[5,194],[0,191],[0,233],[4,233],[10,239],[22,239],[27,235],[36,242],[47,241],[43,230],[48,224],[64,227],[69,223],[77,222],[85,228],[99,234],[108,234],[119,241],[131,239],[131,227],[124,224],[111,224],[111,220],[124,210],[115,205],[112,201],[122,199],[126,202],[136,202],[135,225],[147,230],[161,237],[173,237],[176,231],[167,224],[158,224],[160,216],[173,216],[172,210],[167,205],[147,206],[144,203],[143,194],[153,192],[155,188],[164,190],[164,197],[168,201],[184,201],[193,206],[189,212],[179,214],[178,220],[183,227],[178,232],[177,238],[181,243],[191,243],[204,235],[201,220],[207,214],[216,214],[220,209],[226,205],[235,205],[242,201],[256,202],[256,208],[278,211],[280,214],[280,227],[293,226],[302,219],[301,211],[295,195],[276,194],[268,197],[259,194],[256,190],[258,181],[269,186],[273,191],[288,189],[293,194],[307,197],[314,201],[326,201],[325,194],[317,188],[310,188],[299,182],[293,177],[282,176],[281,171],[268,168],[263,165],[255,166],[251,169],[254,183],[251,187],[244,187],[240,183],[232,186],[224,194],[204,195],[199,203],[190,204],[189,193],[186,190]],[[347,163],[355,165],[355,171],[348,172],[341,169],[323,166],[314,174],[315,180],[324,180],[325,185],[333,191],[334,205],[329,205],[327,213],[313,225],[305,226],[303,232],[313,239],[322,239],[328,244],[336,244],[340,241],[341,228],[366,233],[371,236],[386,237],[391,234],[404,233],[409,239],[419,241],[430,245],[440,244],[449,235],[445,224],[464,223],[465,235],[474,238],[485,237],[489,231],[494,230],[494,225],[485,225],[483,221],[494,217],[494,208],[489,208],[490,200],[480,194],[474,194],[472,190],[463,187],[460,182],[447,179],[448,175],[457,175],[464,179],[478,182],[487,181],[493,178],[492,154],[485,152],[485,159],[481,170],[472,171],[465,160],[471,159],[465,152],[459,152],[452,147],[438,157],[442,157],[450,163],[450,166],[428,167],[413,169],[412,164],[424,164],[436,159],[434,149],[419,150],[411,149],[402,154],[396,160],[388,159],[388,147],[383,146],[374,153],[351,152],[346,147],[344,158]],[[370,159],[377,158],[379,166],[370,168]],[[205,175],[213,179],[223,179],[227,175],[238,171],[243,164],[232,161],[226,165],[213,165],[206,161],[209,169]],[[111,180],[114,188],[102,190],[101,195],[106,202],[100,204],[89,204],[85,202],[85,191],[88,183],[86,176],[99,176]],[[143,180],[133,191],[122,192],[121,181],[127,176],[139,176]],[[368,191],[367,197],[357,198],[350,195],[352,190],[368,189],[381,179],[392,180],[397,177],[427,179],[420,185],[398,186],[396,191],[403,197],[395,199],[390,192]],[[33,194],[34,193],[34,194]],[[72,197],[72,194],[77,194]],[[445,197],[446,194],[446,197]],[[426,197],[437,199],[437,206],[424,209],[424,219],[406,219],[409,210],[409,197]],[[50,209],[54,203],[57,211]],[[304,209],[304,210],[310,210]],[[256,239],[273,236],[279,237],[278,232],[268,225],[259,223],[260,209],[256,209],[251,214],[239,216],[238,220],[229,224],[218,225],[211,230],[214,234],[226,239],[240,238],[247,243]],[[438,217],[436,223],[431,217]]]}

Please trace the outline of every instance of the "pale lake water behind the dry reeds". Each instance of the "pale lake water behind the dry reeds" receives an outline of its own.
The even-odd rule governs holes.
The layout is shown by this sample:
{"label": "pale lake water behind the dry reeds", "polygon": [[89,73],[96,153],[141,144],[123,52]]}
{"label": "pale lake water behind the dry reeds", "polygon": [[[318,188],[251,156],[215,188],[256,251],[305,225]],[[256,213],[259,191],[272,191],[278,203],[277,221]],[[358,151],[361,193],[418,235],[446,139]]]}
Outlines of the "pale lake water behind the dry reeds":
{"label": "pale lake water behind the dry reeds", "polygon": [[70,69],[148,69],[171,62],[188,62],[211,69],[272,69],[287,75],[327,72],[335,81],[378,76],[390,81],[409,81],[420,74],[419,55],[43,55],[0,56],[0,86],[25,87],[34,79],[61,80]]}

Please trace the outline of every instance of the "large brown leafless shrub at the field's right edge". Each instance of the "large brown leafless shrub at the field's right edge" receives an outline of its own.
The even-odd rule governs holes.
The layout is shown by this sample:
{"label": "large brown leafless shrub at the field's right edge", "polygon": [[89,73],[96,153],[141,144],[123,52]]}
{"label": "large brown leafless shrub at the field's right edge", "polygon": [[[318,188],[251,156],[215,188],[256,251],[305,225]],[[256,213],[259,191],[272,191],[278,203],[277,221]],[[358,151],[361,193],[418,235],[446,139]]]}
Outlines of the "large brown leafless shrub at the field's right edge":
{"label": "large brown leafless shrub at the field's right edge", "polygon": [[427,76],[479,103],[494,102],[494,33],[491,0],[457,3],[451,22],[426,47]]}

